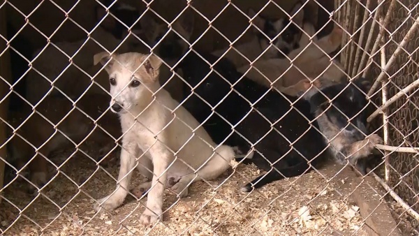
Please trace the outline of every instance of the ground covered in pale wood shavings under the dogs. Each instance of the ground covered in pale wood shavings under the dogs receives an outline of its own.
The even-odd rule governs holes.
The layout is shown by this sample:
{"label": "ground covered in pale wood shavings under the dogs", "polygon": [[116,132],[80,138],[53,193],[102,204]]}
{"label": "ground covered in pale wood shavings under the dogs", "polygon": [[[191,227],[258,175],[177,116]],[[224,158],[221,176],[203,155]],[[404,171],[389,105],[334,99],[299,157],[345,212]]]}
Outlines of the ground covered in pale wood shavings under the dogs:
{"label": "ground covered in pale wood shavings under the dogs", "polygon": [[[147,198],[128,196],[112,214],[95,214],[94,199],[115,189],[110,175],[117,177],[117,155],[98,168],[76,154],[38,195],[13,182],[0,205],[3,235],[367,235],[358,206],[348,200],[350,179],[334,177],[337,165],[242,193],[260,171],[240,164],[214,181],[193,184],[186,198],[166,190],[164,221],[154,226],[138,221]],[[137,173],[133,179],[144,181]]]}

